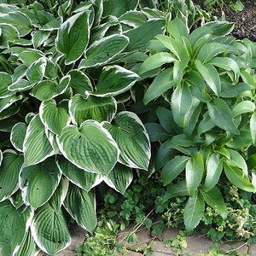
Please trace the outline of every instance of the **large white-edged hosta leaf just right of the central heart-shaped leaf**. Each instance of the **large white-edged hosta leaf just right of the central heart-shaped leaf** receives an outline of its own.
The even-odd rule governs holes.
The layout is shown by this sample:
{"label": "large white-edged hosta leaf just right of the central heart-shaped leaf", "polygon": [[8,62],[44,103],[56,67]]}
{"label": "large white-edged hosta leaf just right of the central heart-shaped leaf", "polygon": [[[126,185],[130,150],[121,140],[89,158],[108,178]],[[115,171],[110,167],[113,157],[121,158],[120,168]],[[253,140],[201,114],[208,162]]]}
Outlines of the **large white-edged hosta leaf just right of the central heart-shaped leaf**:
{"label": "large white-edged hosta leaf just right of the central heart-shaped leaf", "polygon": [[102,123],[119,146],[119,162],[131,168],[147,170],[150,159],[148,132],[135,113],[120,112],[114,119],[114,125]]}

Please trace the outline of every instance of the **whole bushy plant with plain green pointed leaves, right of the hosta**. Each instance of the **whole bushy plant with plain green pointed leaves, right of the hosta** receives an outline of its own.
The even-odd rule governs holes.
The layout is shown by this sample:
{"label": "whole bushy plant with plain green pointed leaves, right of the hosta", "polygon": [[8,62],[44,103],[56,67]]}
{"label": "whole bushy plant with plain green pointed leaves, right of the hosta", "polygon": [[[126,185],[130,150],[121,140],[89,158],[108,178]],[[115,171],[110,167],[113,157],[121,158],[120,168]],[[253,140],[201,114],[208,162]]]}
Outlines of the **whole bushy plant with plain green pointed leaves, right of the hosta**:
{"label": "whole bushy plant with plain green pointed leaves, right of the hosta", "polygon": [[147,122],[154,167],[167,185],[163,200],[189,195],[189,231],[206,204],[226,216],[219,179],[255,192],[256,44],[228,36],[232,28],[212,21],[189,30],[186,20],[170,20],[139,68],[141,76],[158,72],[144,83],[147,108],[140,102],[132,109]]}

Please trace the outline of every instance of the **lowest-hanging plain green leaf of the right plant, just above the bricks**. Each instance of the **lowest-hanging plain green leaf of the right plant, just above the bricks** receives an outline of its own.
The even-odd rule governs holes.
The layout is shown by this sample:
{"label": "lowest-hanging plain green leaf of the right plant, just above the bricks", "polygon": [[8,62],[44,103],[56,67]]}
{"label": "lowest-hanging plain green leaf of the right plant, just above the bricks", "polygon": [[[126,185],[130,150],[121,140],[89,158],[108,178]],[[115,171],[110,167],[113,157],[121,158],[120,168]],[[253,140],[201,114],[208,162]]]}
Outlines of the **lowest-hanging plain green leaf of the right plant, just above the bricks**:
{"label": "lowest-hanging plain green leaf of the right plant, just above the bricks", "polygon": [[200,194],[189,197],[184,210],[184,224],[189,232],[194,230],[205,212],[205,202]]}

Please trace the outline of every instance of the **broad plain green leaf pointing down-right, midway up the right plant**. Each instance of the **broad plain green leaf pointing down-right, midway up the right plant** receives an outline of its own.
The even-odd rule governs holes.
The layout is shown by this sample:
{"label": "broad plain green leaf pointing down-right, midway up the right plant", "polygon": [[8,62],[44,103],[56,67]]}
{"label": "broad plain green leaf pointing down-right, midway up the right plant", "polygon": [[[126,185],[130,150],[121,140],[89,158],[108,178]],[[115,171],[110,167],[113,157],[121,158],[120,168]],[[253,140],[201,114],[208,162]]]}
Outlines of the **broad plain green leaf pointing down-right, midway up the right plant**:
{"label": "broad plain green leaf pointing down-right, midway up the right plant", "polygon": [[212,102],[207,103],[209,110],[210,118],[212,122],[217,125],[219,128],[230,131],[234,134],[239,134],[239,131],[236,128],[236,125],[233,121],[233,115],[229,106],[224,100],[213,97]]}

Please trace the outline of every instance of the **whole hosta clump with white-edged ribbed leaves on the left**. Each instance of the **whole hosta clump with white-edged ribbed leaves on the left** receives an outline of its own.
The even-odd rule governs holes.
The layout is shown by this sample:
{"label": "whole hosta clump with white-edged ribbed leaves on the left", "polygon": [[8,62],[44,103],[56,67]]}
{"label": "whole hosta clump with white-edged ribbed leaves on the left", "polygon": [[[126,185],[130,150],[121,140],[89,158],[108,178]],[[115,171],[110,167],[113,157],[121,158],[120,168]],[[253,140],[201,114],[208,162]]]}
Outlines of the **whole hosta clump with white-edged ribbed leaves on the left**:
{"label": "whole hosta clump with white-edged ribbed leaves on the left", "polygon": [[95,229],[97,184],[124,193],[132,168],[148,170],[148,132],[126,107],[165,18],[154,1],[1,2],[0,254],[54,255],[69,215]]}

